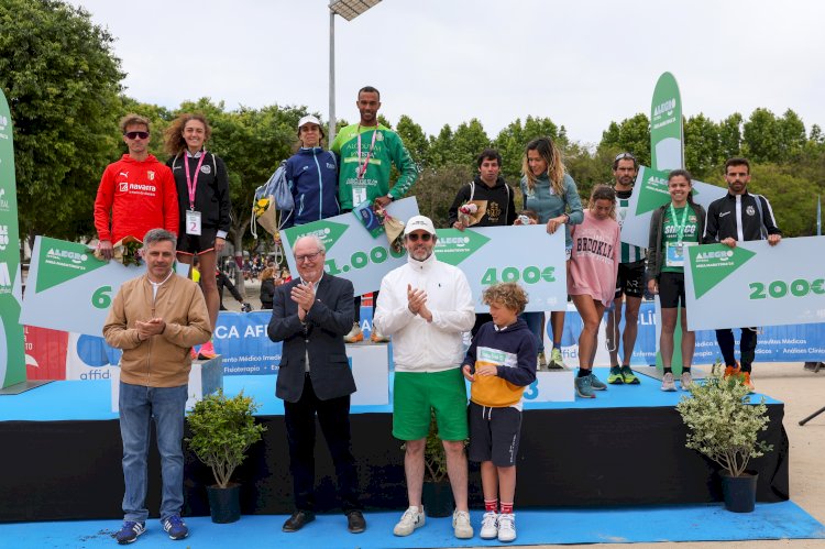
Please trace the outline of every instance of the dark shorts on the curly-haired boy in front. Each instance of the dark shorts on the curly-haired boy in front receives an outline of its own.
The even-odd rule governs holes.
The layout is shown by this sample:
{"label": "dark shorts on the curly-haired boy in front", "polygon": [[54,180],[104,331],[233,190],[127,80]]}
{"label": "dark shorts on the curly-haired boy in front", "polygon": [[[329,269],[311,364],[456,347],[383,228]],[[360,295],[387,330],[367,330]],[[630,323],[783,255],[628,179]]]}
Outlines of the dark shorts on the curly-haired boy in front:
{"label": "dark shorts on the curly-haired boy in front", "polygon": [[492,461],[496,466],[513,466],[518,454],[521,410],[513,406],[491,408],[470,403],[470,460]]}

